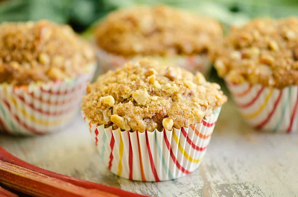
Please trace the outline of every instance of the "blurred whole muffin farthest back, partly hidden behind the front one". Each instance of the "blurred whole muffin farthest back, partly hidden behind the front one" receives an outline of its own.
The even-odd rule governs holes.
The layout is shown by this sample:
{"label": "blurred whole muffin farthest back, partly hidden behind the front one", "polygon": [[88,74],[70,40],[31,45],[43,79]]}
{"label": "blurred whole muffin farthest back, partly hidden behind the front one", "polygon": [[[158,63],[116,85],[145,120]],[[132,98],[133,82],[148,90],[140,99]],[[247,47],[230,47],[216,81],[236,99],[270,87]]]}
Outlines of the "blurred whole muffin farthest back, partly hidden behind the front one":
{"label": "blurred whole muffin farthest back, partly hidden behind the front one", "polygon": [[100,71],[146,56],[207,75],[222,35],[217,21],[168,6],[117,10],[95,30]]}

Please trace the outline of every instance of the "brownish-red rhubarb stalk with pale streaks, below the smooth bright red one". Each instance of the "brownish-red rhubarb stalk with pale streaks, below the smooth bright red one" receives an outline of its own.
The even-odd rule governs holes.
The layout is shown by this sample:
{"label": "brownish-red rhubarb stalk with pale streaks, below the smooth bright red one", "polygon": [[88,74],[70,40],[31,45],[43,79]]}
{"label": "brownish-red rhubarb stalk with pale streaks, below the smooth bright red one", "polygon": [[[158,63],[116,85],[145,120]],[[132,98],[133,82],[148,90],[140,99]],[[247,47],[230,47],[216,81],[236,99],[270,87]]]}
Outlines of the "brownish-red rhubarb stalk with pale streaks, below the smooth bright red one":
{"label": "brownish-red rhubarb stalk with pale streaks, below the smooth bright red one", "polygon": [[0,161],[0,182],[15,190],[34,196],[117,197],[111,193],[79,187],[3,161]]}

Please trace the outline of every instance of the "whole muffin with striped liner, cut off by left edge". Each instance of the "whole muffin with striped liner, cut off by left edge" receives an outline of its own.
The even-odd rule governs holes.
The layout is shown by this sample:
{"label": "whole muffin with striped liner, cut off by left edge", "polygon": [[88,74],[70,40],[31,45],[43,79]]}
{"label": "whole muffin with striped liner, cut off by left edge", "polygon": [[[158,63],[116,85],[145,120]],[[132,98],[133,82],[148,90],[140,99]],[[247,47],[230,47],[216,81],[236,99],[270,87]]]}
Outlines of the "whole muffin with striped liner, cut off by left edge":
{"label": "whole muffin with striped liner, cut off by left edge", "polygon": [[41,135],[76,114],[94,74],[95,50],[65,25],[0,25],[0,130]]}

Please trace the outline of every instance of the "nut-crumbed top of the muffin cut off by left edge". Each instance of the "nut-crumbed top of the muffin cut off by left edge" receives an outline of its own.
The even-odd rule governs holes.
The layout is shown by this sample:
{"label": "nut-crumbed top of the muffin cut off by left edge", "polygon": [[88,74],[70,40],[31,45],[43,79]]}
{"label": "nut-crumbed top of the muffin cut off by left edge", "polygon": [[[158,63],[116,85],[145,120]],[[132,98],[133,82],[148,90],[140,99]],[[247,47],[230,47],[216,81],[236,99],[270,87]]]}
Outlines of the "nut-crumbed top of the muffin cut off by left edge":
{"label": "nut-crumbed top of the muffin cut off by left edge", "polygon": [[94,61],[94,49],[69,26],[49,21],[0,25],[0,83],[72,78]]}

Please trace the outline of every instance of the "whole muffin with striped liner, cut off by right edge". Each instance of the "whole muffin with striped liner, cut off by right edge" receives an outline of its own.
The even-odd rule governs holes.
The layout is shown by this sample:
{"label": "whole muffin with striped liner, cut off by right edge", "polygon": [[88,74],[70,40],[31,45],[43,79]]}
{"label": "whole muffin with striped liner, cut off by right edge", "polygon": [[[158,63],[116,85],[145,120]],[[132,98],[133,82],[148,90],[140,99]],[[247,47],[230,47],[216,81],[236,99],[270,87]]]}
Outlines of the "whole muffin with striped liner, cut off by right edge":
{"label": "whole muffin with striped liner, cut off by right edge", "polygon": [[215,68],[253,127],[297,132],[297,55],[297,18],[256,19],[224,39]]}

